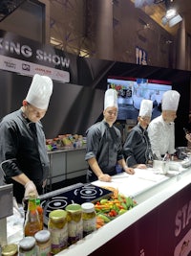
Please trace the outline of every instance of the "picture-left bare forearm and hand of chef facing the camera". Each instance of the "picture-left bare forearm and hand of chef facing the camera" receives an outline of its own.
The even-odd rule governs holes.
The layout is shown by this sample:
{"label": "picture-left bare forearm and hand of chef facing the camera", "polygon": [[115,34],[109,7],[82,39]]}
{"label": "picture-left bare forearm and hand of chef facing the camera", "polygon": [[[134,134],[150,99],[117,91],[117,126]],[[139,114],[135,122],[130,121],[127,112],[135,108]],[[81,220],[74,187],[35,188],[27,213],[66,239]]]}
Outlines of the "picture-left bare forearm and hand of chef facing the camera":
{"label": "picture-left bare forearm and hand of chef facing the camera", "polygon": [[110,175],[103,174],[95,157],[92,157],[92,158],[88,159],[87,161],[88,161],[88,164],[91,167],[92,171],[97,176],[98,180],[106,181],[106,182],[110,182],[112,180],[112,177]]}

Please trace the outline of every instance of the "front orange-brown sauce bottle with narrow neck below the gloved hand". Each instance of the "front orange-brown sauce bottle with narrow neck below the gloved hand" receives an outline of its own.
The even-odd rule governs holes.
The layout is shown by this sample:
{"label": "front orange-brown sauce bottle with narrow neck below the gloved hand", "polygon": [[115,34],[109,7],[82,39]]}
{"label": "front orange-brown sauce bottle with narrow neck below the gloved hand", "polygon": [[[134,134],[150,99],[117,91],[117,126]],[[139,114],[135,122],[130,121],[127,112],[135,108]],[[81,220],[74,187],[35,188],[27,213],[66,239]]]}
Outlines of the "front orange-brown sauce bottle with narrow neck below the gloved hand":
{"label": "front orange-brown sauce bottle with narrow neck below the gloved hand", "polygon": [[25,237],[34,236],[39,230],[41,230],[41,223],[36,208],[36,195],[31,193],[29,195],[28,210],[24,224],[24,235]]}

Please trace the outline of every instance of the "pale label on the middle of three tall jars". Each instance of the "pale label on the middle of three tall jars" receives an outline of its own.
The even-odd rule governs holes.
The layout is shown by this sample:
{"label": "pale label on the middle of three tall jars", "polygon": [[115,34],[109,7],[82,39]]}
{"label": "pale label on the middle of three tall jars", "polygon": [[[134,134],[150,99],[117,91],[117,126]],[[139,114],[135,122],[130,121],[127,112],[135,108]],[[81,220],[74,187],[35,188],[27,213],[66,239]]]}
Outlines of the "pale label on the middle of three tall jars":
{"label": "pale label on the middle of three tall jars", "polygon": [[83,221],[70,221],[68,223],[69,244],[74,244],[83,238]]}

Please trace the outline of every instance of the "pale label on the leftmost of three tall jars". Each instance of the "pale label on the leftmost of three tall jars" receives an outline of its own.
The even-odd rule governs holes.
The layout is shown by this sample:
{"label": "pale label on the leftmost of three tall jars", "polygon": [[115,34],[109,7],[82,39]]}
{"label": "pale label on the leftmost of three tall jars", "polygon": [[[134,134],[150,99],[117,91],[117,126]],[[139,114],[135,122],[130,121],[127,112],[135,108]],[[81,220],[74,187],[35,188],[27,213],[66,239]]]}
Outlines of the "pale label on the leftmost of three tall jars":
{"label": "pale label on the leftmost of three tall jars", "polygon": [[68,224],[60,229],[49,228],[49,230],[51,232],[53,254],[66,248],[68,245]]}

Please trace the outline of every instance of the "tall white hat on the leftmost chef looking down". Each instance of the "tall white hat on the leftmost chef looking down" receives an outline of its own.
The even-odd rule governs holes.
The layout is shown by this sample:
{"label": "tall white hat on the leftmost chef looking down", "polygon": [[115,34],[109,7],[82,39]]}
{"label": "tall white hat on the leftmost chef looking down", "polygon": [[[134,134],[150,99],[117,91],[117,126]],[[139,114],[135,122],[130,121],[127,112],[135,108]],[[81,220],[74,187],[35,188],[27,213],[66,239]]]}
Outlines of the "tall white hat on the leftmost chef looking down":
{"label": "tall white hat on the leftmost chef looking down", "polygon": [[37,108],[47,109],[52,93],[52,79],[35,74],[26,101]]}

